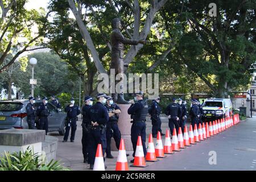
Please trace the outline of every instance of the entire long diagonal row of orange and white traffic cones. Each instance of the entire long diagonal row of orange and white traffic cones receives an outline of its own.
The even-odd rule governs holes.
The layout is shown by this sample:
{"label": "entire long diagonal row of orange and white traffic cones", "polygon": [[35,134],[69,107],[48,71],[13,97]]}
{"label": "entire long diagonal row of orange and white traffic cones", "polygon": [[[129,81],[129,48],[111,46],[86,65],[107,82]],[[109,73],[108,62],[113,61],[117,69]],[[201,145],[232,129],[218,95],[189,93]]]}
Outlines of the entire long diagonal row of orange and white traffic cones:
{"label": "entire long diagonal row of orange and white traffic cones", "polygon": [[[164,154],[174,154],[174,151],[181,151],[181,148],[185,148],[187,146],[192,146],[192,144],[196,144],[197,142],[201,142],[202,140],[208,139],[225,131],[231,126],[236,125],[240,122],[239,115],[234,114],[232,117],[226,117],[223,119],[218,119],[204,124],[203,126],[199,123],[199,129],[197,130],[197,125],[195,125],[194,130],[192,129],[192,125],[189,127],[189,131],[187,130],[187,126],[184,127],[184,134],[181,132],[181,127],[179,127],[179,133],[176,134],[176,129],[174,129],[172,140],[170,138],[170,131],[166,130],[166,139],[163,147],[162,137],[160,131],[158,131],[158,136],[156,139],[156,147],[154,147],[154,141],[152,138],[152,134],[149,135],[148,138],[148,146],[147,146],[147,155],[144,158],[144,152],[142,147],[141,136],[138,137],[137,147],[135,151],[134,163],[131,167],[147,167],[147,162],[157,162],[159,159],[156,158],[166,158]],[[98,144],[96,158],[93,166],[94,171],[104,171],[104,159],[102,155],[101,144]],[[125,143],[123,139],[121,139],[119,153],[117,157],[117,163],[115,167],[116,171],[128,171],[128,163],[126,157]]]}

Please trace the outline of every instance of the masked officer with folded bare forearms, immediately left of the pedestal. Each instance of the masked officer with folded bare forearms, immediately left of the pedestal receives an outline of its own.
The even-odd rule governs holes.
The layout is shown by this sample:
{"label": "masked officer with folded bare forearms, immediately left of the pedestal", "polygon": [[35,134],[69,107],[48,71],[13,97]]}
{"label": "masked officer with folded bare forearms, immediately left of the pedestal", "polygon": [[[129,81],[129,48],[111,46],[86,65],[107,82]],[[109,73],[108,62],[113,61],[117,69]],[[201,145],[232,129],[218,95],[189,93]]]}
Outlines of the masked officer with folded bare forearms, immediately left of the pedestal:
{"label": "masked officer with folded bare forearms, immediately left of the pedestal", "polygon": [[115,146],[119,150],[119,145],[121,141],[121,133],[118,128],[118,114],[121,113],[121,109],[117,104],[113,103],[113,98],[108,97],[105,104],[106,109],[108,109],[109,113],[109,121],[106,125],[106,158],[113,159],[113,155],[111,155],[111,138],[113,137],[115,140]]}

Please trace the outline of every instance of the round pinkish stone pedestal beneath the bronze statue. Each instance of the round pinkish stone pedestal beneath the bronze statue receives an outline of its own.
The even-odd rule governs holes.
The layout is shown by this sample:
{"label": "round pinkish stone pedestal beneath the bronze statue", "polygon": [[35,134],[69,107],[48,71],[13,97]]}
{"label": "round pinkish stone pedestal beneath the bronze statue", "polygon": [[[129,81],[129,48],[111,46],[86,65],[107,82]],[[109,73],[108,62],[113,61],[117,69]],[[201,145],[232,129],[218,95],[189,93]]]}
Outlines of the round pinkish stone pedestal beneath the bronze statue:
{"label": "round pinkish stone pedestal beneath the bronze statue", "polygon": [[[127,113],[127,110],[130,107],[130,104],[118,104],[121,109],[121,113],[119,114],[118,119],[118,127],[121,132],[121,138],[123,138],[125,142],[126,151],[133,151],[133,144],[131,143],[131,116]],[[111,150],[117,151],[117,147],[115,146],[114,139],[112,138],[111,142]]]}

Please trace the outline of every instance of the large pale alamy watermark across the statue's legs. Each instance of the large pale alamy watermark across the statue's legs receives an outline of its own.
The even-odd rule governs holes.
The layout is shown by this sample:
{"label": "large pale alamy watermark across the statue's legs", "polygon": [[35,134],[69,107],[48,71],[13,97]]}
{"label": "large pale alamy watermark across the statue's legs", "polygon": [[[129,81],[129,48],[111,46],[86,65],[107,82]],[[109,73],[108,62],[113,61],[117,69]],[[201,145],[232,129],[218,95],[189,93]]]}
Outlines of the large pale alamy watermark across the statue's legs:
{"label": "large pale alamy watermark across the statue's legs", "polygon": [[[154,84],[153,84],[154,79]],[[110,75],[101,73],[97,77],[98,92],[111,93],[138,93],[140,90],[148,94],[149,100],[159,96],[158,73],[129,73],[128,78],[124,73],[115,75],[115,69],[110,69]],[[154,88],[153,88],[154,86]]]}

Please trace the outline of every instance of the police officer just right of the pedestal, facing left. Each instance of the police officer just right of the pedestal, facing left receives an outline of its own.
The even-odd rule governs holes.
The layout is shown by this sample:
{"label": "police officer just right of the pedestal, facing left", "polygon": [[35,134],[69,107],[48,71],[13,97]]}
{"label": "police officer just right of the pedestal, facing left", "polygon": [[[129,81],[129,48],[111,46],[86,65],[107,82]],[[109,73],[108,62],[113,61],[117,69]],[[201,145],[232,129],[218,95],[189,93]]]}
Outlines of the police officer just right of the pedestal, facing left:
{"label": "police officer just right of the pedestal, facing left", "polygon": [[[138,101],[134,104],[134,100]],[[137,147],[138,136],[141,136],[144,156],[147,154],[146,150],[146,115],[148,113],[148,106],[143,100],[143,92],[135,94],[134,100],[129,101],[131,106],[128,109],[128,114],[133,118],[133,125],[131,125],[131,143],[133,143],[133,157]],[[131,160],[131,163],[134,159]]]}

